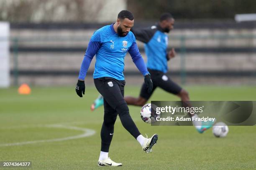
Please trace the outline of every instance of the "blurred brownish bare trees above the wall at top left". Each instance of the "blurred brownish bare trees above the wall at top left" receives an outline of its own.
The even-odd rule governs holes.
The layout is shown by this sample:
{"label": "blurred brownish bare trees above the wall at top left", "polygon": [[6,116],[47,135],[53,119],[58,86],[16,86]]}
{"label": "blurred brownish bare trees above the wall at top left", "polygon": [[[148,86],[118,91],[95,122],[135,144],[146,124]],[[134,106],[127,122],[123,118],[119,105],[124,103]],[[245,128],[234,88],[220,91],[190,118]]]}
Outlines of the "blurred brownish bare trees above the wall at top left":
{"label": "blurred brownish bare trees above the wall at top left", "polygon": [[102,0],[0,0],[0,20],[94,22],[102,7]]}

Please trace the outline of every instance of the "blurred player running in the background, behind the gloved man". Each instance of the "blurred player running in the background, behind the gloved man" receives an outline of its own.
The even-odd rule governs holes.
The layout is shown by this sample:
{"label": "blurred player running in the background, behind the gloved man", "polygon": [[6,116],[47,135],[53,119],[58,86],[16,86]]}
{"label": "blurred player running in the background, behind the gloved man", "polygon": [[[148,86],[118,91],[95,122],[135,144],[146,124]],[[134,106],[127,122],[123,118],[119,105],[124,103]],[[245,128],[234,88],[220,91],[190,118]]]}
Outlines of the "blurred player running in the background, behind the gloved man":
{"label": "blurred player running in the background, behind the gloved man", "polygon": [[[147,92],[146,84],[143,83],[141,92],[138,97],[125,96],[124,99],[128,105],[143,106],[153,94],[156,87],[160,87],[166,92],[177,95],[184,107],[191,107],[189,102],[189,94],[186,90],[180,87],[177,83],[173,82],[170,77],[166,75],[168,71],[167,62],[175,57],[176,52],[174,48],[167,52],[168,36],[170,30],[174,28],[174,18],[170,13],[163,13],[157,25],[150,28],[132,29],[136,39],[145,43],[145,52],[147,56],[147,68],[151,75],[153,82],[153,90]],[[102,105],[103,98],[100,95],[91,106],[91,110],[96,109]],[[189,116],[192,116],[189,113]],[[197,117],[197,115],[193,115]],[[209,122],[193,122],[197,131],[203,133],[212,125]]]}

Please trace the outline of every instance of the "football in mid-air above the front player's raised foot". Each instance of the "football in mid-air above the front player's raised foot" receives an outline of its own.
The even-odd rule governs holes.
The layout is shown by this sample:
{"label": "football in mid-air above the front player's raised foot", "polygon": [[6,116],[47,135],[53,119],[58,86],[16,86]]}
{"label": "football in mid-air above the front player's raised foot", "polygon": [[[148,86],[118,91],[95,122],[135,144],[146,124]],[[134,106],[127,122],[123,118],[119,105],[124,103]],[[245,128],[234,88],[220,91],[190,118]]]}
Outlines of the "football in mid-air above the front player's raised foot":
{"label": "football in mid-air above the front player's raised foot", "polygon": [[[159,116],[159,115],[156,115],[156,109],[154,108],[156,108],[155,105],[151,105],[151,103],[148,103],[141,108],[141,119],[144,122],[146,123],[156,122],[156,116]],[[152,115],[151,115],[151,110],[153,111]]]}

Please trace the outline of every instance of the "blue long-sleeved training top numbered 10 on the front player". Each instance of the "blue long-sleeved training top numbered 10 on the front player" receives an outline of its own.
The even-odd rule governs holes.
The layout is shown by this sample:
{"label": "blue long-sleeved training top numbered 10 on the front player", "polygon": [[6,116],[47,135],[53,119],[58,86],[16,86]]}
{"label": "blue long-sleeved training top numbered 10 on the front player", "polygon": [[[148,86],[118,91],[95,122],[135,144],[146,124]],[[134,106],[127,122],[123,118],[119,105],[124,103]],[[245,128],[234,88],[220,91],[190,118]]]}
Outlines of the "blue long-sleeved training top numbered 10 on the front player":
{"label": "blue long-sleeved training top numbered 10 on the front player", "polygon": [[84,80],[92,58],[96,54],[93,78],[113,77],[124,80],[124,57],[127,51],[138,70],[143,75],[149,74],[131,31],[125,37],[119,37],[113,24],[96,30],[85,52],[78,79]]}

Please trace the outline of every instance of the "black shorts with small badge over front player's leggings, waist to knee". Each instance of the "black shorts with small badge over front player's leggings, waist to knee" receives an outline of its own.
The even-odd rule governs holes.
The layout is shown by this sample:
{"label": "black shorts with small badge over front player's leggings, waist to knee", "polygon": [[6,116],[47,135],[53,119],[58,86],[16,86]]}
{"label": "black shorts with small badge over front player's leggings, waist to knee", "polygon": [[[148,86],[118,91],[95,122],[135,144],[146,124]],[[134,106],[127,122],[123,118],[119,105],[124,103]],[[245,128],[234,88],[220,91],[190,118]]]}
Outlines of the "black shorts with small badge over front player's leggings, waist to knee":
{"label": "black shorts with small badge over front player's leggings, waist to knee", "polygon": [[[104,110],[113,114],[117,106],[125,102],[124,86],[125,80],[116,80],[112,77],[100,77],[94,79],[97,90],[104,98]],[[115,114],[117,114],[115,112]]]}

